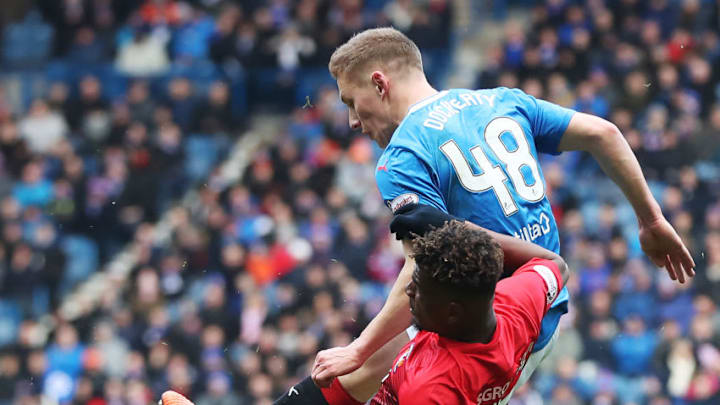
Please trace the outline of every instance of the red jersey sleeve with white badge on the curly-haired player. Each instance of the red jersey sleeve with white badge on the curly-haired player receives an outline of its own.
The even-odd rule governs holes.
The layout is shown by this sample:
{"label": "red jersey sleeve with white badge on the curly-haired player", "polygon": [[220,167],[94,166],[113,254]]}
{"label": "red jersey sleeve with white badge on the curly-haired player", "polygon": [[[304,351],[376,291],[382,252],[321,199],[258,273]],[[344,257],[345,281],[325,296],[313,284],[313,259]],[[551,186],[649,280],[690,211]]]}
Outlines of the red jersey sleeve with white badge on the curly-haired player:
{"label": "red jersey sleeve with white badge on the curly-haired player", "polygon": [[495,300],[518,306],[530,315],[532,325],[539,331],[542,318],[562,288],[562,274],[555,262],[535,258],[498,282]]}

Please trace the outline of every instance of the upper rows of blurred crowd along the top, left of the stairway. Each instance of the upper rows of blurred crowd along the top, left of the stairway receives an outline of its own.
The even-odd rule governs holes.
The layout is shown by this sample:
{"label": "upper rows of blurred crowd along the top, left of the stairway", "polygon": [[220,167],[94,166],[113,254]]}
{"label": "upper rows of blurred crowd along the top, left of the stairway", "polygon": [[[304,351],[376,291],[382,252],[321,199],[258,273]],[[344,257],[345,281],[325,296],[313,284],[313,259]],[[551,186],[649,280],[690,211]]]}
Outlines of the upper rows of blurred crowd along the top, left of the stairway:
{"label": "upper rows of blurred crowd along the top, left of the stairway", "polygon": [[28,11],[3,29],[5,69],[50,78],[95,72],[114,97],[128,77],[219,76],[236,112],[287,111],[304,101],[332,80],[330,54],[363,27],[407,32],[438,85],[452,49],[448,0],[35,0],[16,7]]}

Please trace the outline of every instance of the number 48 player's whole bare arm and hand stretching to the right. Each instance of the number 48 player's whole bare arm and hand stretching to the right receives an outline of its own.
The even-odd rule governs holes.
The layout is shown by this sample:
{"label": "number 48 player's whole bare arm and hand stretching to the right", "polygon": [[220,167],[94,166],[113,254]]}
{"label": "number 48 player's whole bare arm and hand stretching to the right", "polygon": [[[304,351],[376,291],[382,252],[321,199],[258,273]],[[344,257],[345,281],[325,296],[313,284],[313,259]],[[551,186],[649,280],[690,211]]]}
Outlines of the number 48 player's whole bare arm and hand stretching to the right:
{"label": "number 48 player's whole bare arm and hand stretching to the right", "polygon": [[690,252],[663,216],[640,164],[614,124],[590,114],[575,113],[558,149],[584,150],[595,157],[632,204],[640,226],[640,244],[655,265],[665,267],[670,278],[681,283],[686,276],[695,275]]}

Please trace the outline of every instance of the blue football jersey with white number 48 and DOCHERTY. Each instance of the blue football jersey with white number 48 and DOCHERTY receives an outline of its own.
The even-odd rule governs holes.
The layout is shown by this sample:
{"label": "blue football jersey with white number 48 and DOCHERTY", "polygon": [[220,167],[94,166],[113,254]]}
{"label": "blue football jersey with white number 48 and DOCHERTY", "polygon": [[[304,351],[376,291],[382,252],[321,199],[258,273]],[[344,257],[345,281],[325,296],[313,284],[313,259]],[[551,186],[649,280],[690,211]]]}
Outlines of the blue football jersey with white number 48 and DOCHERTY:
{"label": "blue football jersey with white number 48 and DOCHERTY", "polygon": [[[393,212],[427,204],[559,253],[537,156],[559,153],[573,114],[517,89],[441,91],[412,106],[395,130],[376,168],[380,194]],[[567,299],[563,290],[554,304],[560,315]]]}

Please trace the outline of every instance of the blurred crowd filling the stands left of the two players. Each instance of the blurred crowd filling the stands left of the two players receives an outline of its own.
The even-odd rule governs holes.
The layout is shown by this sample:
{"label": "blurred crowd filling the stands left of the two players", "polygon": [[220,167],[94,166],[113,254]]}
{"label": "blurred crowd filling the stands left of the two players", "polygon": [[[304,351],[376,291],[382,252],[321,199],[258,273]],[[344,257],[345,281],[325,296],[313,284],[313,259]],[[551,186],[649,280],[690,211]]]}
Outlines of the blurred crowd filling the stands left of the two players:
{"label": "blurred crowd filling the stands left of the two players", "polygon": [[[337,45],[390,21],[442,77],[448,1],[7,6],[18,18],[0,36],[0,404],[149,404],[171,387],[198,404],[267,403],[380,308],[401,256],[387,223],[362,213],[384,214],[379,202],[356,210],[376,151],[360,140],[348,157],[345,112],[314,89],[331,82]],[[221,186],[248,112],[306,95],[289,141]],[[327,122],[343,137],[325,139]],[[200,204],[178,208],[188,190]],[[175,232],[160,246],[166,213]],[[127,285],[63,319],[68,293],[128,243]],[[357,308],[341,315],[341,300]]]}

